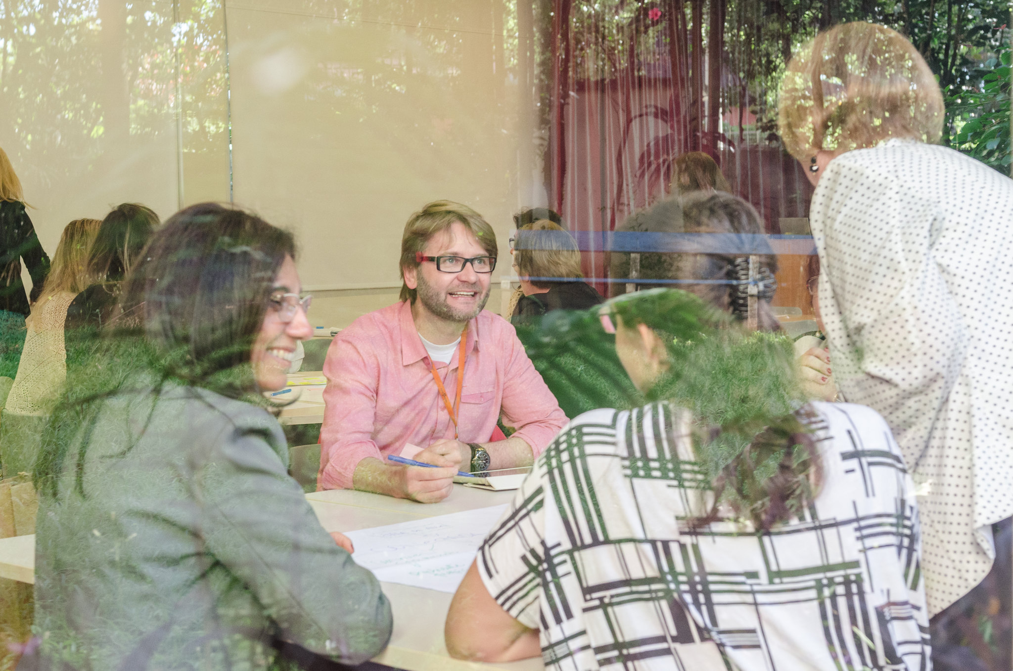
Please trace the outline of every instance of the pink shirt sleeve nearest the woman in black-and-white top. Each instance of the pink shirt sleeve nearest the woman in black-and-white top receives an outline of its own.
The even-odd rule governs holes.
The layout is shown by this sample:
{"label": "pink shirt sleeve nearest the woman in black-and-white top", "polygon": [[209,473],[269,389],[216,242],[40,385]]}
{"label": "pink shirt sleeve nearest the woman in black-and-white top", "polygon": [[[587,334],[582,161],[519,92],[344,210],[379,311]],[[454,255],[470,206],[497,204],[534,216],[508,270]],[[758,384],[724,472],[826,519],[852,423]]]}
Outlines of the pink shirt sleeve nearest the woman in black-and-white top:
{"label": "pink shirt sleeve nearest the woman in black-and-white top", "polygon": [[567,419],[556,397],[528,358],[514,328],[509,328],[509,358],[500,412],[503,421],[517,428],[514,436],[524,439],[538,456],[566,426]]}

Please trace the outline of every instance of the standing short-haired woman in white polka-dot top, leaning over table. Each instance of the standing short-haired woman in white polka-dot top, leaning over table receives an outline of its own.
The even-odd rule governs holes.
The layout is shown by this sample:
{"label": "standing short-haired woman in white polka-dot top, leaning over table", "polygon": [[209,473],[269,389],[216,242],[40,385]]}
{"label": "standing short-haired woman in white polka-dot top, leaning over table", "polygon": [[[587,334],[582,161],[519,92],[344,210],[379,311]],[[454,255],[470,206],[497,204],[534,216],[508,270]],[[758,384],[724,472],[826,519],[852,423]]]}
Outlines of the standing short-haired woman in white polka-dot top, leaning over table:
{"label": "standing short-haired woman in white polka-dot top, leaning over table", "polygon": [[[976,595],[961,597],[1011,562],[1013,180],[937,145],[943,114],[911,43],[855,22],[792,59],[779,124],[816,187],[809,223],[834,375],[848,401],[886,419],[918,488],[933,646],[965,644],[983,668],[1008,670],[1008,638],[1000,662],[987,659],[994,642],[945,631],[975,610]],[[986,611],[1005,610],[1008,634],[1002,581]]]}

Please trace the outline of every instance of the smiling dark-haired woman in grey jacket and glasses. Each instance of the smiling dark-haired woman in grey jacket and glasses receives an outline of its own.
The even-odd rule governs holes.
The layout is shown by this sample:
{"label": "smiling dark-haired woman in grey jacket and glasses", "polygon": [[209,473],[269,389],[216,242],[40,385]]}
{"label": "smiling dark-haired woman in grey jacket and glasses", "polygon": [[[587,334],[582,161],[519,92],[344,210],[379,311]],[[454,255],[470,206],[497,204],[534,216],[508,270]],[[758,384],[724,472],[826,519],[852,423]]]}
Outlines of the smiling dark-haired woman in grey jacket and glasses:
{"label": "smiling dark-haired woman in grey jacket and glasses", "polygon": [[288,476],[260,394],[312,334],[294,256],[290,234],[206,203],[131,271],[37,462],[44,664],[276,669],[386,645],[380,585]]}

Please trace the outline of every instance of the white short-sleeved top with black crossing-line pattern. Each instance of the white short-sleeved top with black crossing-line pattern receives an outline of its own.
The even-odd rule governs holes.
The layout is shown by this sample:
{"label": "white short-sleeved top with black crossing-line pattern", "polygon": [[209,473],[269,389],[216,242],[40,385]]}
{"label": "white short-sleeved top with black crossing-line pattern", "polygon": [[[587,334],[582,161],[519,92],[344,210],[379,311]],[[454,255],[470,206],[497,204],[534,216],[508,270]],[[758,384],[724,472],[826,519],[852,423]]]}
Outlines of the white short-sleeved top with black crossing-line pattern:
{"label": "white short-sleeved top with black crossing-line pattern", "polygon": [[898,446],[868,408],[813,408],[824,484],[803,518],[767,533],[686,523],[712,494],[685,411],[579,416],[479,551],[486,588],[541,630],[559,671],[929,669],[918,513]]}

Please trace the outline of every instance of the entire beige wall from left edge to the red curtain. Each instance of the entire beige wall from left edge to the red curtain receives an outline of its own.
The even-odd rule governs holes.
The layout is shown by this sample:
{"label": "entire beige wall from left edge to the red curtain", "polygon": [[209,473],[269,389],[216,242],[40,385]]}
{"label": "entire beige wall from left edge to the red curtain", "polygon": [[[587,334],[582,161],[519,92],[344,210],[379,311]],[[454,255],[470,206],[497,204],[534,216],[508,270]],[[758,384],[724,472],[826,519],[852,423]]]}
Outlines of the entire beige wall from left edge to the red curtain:
{"label": "entire beige wall from left edge to the red curtain", "polygon": [[67,222],[119,202],[165,218],[229,199],[231,141],[234,201],[297,234],[314,314],[343,325],[396,293],[401,231],[423,203],[473,206],[503,256],[511,215],[544,204],[519,196],[535,134],[510,0],[64,6],[0,19],[35,30],[3,31],[18,32],[20,74],[3,82],[17,122],[0,123],[0,147],[51,253]]}

